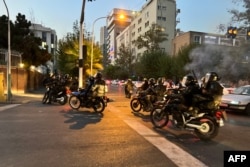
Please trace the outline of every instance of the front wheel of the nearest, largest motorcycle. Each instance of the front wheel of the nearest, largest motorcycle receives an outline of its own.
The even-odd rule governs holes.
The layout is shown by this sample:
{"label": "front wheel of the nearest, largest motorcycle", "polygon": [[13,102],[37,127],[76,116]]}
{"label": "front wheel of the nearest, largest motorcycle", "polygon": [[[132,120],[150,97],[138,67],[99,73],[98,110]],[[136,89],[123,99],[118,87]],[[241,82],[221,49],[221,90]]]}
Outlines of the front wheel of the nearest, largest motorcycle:
{"label": "front wheel of the nearest, largest motorcycle", "polygon": [[150,120],[154,127],[163,128],[168,124],[169,115],[164,110],[154,109],[150,112]]}

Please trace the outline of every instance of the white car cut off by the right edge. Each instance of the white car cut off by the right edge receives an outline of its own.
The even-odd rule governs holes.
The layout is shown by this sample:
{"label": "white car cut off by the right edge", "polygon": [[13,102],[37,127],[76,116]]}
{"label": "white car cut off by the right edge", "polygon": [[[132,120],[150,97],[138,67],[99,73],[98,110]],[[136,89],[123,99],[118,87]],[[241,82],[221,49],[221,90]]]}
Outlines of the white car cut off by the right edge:
{"label": "white car cut off by the right edge", "polygon": [[222,96],[221,108],[242,111],[250,115],[250,85],[235,88],[231,94]]}

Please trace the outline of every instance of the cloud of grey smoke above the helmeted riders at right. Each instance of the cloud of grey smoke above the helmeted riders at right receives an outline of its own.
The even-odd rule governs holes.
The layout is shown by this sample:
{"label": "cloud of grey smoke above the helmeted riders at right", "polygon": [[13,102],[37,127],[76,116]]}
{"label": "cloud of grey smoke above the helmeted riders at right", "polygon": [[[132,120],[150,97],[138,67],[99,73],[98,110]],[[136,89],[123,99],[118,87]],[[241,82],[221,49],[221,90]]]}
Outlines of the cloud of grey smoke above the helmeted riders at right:
{"label": "cloud of grey smoke above the helmeted riders at right", "polygon": [[[219,45],[205,45],[197,47],[189,55],[190,64],[185,66],[186,70],[193,70],[198,78],[207,72],[216,72],[222,80],[235,82],[246,76],[249,65],[243,65],[244,53],[239,52],[236,47]],[[242,50],[243,51],[243,50]]]}

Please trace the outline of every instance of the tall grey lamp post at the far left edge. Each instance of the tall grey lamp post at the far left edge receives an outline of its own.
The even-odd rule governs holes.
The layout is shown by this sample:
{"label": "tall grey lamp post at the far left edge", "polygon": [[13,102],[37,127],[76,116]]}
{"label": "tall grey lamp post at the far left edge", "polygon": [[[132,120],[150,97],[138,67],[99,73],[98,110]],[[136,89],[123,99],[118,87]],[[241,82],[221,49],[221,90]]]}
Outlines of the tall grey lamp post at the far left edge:
{"label": "tall grey lamp post at the far left edge", "polygon": [[8,60],[7,60],[7,101],[11,101],[11,49],[10,49],[10,15],[5,0],[3,0],[8,15]]}

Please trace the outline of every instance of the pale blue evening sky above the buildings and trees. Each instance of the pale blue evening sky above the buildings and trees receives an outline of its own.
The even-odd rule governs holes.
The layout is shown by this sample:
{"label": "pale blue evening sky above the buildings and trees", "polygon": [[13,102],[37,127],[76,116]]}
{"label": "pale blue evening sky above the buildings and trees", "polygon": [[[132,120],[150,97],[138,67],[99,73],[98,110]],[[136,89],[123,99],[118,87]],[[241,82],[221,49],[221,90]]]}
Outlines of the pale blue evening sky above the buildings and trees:
{"label": "pale blue evening sky above the buildings and trees", "polygon": [[[54,29],[58,39],[73,32],[73,23],[80,21],[83,0],[5,0],[10,19],[16,20],[18,13],[24,14],[27,20]],[[93,0],[85,4],[85,29],[92,31],[95,19],[107,16],[113,8],[140,10],[146,0]],[[218,33],[217,26],[228,26],[231,15],[229,9],[238,8],[232,0],[176,0],[181,10],[177,18],[177,28],[182,31],[200,31]],[[3,0],[0,0],[0,16],[7,15]],[[105,19],[95,23],[94,32],[99,41],[100,27],[106,24]],[[235,25],[234,25],[235,26]],[[1,28],[1,27],[0,27]]]}

